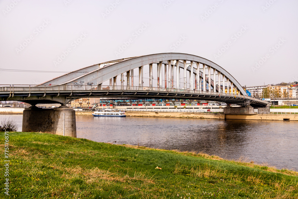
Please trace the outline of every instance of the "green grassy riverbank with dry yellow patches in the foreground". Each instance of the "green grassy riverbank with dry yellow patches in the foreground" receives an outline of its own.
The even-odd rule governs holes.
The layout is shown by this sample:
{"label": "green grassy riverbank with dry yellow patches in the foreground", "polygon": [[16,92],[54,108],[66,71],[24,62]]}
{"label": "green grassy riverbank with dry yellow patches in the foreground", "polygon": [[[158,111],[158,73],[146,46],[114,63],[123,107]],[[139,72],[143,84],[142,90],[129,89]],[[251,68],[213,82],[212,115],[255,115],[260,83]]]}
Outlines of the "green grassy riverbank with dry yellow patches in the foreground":
{"label": "green grassy riverbank with dry yellow patches in the foreground", "polygon": [[298,198],[297,172],[201,153],[32,132],[10,132],[9,144],[5,198]]}

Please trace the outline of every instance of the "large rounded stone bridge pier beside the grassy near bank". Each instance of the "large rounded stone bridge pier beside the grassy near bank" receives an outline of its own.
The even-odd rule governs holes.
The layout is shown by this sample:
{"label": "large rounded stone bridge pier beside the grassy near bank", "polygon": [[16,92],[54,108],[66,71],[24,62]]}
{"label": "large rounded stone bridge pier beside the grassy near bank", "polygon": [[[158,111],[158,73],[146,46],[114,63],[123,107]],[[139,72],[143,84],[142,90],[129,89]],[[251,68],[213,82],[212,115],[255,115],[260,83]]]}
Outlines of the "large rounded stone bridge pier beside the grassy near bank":
{"label": "large rounded stone bridge pier beside the grassy near bank", "polygon": [[35,106],[25,108],[22,131],[50,132],[76,138],[75,110],[66,106],[54,109],[42,109]]}

